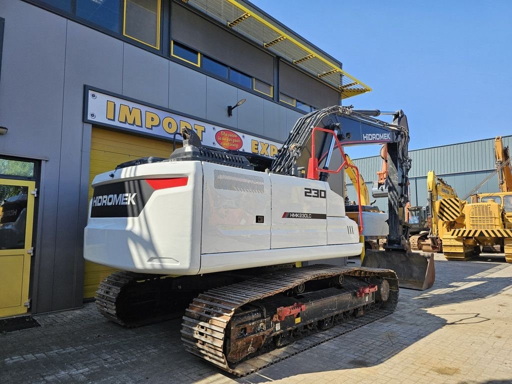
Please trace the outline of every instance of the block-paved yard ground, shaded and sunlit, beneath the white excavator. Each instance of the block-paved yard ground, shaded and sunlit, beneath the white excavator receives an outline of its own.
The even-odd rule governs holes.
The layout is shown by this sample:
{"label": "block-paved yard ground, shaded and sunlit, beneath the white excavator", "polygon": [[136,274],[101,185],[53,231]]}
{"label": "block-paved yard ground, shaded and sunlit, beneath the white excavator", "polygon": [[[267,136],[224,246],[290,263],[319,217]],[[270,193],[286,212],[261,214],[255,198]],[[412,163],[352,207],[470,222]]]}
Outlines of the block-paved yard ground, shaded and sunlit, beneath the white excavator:
{"label": "block-paved yard ground, shaded and sunlit, beneath the white excavator", "polygon": [[0,335],[0,383],[512,382],[512,265],[480,260],[436,256],[435,286],[401,290],[394,314],[244,378],[187,354],[179,319],[123,329],[94,304],[35,316]]}

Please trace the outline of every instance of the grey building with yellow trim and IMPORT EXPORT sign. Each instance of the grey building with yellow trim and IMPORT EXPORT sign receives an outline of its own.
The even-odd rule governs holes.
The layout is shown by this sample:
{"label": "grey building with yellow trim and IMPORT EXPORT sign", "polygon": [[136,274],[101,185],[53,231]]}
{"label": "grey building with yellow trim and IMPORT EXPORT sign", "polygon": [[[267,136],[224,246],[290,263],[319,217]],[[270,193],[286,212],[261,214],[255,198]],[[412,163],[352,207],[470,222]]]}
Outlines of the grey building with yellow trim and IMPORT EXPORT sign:
{"label": "grey building with yellow trim and IMPORT EXPORT sign", "polygon": [[0,317],[80,307],[110,273],[82,257],[95,175],[168,157],[183,127],[272,156],[297,118],[370,91],[234,0],[3,0],[0,70]]}

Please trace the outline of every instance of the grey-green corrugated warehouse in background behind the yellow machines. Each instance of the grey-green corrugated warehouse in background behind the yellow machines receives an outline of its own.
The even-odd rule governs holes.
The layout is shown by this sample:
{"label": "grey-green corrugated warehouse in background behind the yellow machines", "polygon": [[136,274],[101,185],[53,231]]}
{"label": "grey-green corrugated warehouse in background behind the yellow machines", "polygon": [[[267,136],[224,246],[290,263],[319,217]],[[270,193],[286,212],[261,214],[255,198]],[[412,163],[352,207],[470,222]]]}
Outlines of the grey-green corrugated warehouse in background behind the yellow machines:
{"label": "grey-green corrugated warehouse in background behind the yellow machines", "polygon": [[[503,136],[503,145],[512,147],[512,136]],[[450,184],[459,198],[463,199],[480,185],[488,176],[490,178],[478,187],[479,193],[498,192],[498,176],[496,175],[496,159],[494,150],[495,138],[468,141],[449,145],[409,151],[412,167],[409,172],[411,206],[428,205],[426,175],[429,170]],[[380,156],[353,159],[354,164],[365,179],[369,190],[372,180],[376,180],[376,172],[380,170]],[[354,185],[347,181],[347,191],[351,200],[356,199]],[[388,199],[375,199],[375,205],[388,210]]]}

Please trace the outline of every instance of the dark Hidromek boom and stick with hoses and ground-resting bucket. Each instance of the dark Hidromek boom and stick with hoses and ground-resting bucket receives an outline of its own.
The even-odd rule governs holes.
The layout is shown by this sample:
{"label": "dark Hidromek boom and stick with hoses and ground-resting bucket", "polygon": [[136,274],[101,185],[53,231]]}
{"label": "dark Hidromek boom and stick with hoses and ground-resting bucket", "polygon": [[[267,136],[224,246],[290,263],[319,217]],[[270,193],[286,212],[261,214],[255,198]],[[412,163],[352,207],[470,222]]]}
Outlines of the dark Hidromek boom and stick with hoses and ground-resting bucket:
{"label": "dark Hidromek boom and stick with hoses and ground-resting bucket", "polygon": [[[401,287],[426,289],[435,279],[433,255],[411,252],[409,227],[405,221],[411,168],[407,117],[403,111],[397,111],[392,113],[393,121],[388,123],[374,118],[380,114],[378,110],[332,106],[303,116],[278,151],[271,171],[292,176],[306,174],[309,179],[326,181],[330,173],[339,172],[345,165],[353,167],[348,164],[343,147],[386,144],[389,234],[385,251],[368,250],[362,265],[393,269]],[[341,158],[337,154],[341,154]],[[339,163],[342,165],[337,167]],[[358,172],[355,172],[360,190]]]}

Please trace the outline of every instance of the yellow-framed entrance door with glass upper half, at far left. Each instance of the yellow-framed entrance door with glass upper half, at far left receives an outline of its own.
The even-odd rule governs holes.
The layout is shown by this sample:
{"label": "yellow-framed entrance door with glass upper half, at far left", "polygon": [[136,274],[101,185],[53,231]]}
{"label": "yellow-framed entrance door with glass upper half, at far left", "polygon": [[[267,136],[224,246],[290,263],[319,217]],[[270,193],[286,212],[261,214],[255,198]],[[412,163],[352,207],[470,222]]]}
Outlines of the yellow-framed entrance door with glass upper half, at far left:
{"label": "yellow-framed entrance door with glass upper half, at far left", "polygon": [[0,179],[0,317],[27,313],[35,181]]}

